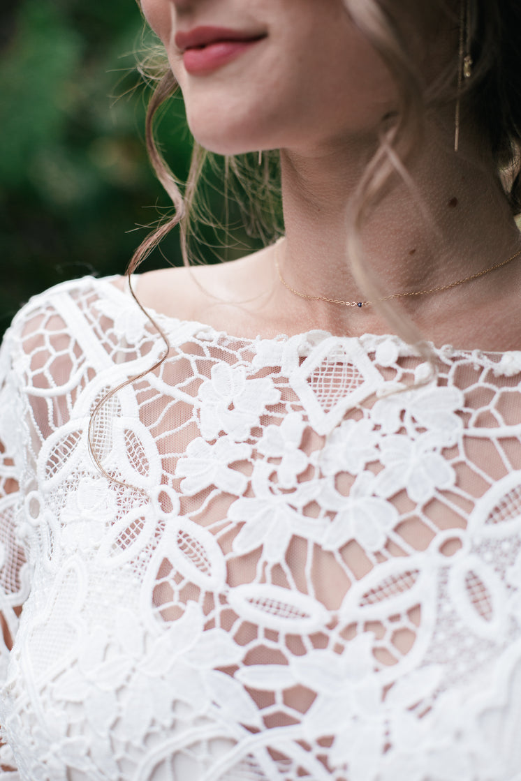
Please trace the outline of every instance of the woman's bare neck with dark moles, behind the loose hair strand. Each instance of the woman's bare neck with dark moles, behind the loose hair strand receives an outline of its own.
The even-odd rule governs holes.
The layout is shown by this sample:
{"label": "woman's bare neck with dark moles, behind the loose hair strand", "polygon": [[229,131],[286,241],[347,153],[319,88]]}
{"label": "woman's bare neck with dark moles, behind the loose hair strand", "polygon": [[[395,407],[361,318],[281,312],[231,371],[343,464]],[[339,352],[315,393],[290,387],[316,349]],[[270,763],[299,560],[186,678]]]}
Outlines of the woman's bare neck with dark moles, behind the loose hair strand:
{"label": "woman's bare neck with dark moles, behind the loose hair strand", "polygon": [[[462,141],[463,146],[463,141]],[[280,248],[284,280],[295,290],[325,298],[362,301],[442,287],[493,266],[519,250],[519,232],[494,166],[471,144],[456,154],[431,127],[408,168],[416,187],[397,180],[362,226],[361,261],[376,290],[362,289],[347,259],[347,209],[373,149],[348,144],[341,152],[281,154],[286,241]],[[515,266],[515,264],[511,264]],[[506,269],[506,267],[505,267]],[[499,295],[503,269],[445,293],[401,299],[423,330],[446,317],[447,307],[475,308]],[[470,291],[473,291],[473,296]],[[285,298],[289,291],[280,291]],[[296,298],[296,297],[294,297]],[[288,305],[289,302],[288,302]],[[323,301],[293,301],[317,327],[388,330],[375,308],[342,308]]]}

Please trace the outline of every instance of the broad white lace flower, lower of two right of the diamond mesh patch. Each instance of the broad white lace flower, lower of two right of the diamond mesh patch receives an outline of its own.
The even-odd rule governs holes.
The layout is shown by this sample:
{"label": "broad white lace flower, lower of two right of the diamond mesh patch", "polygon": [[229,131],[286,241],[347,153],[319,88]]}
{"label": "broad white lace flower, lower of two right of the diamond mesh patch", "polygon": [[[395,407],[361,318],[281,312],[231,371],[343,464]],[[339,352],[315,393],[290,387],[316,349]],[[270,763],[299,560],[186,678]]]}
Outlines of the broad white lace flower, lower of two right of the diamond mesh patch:
{"label": "broad white lace flower, lower of two right of the diamond mesh patch", "polygon": [[405,488],[412,501],[423,504],[437,490],[454,486],[455,471],[434,451],[436,446],[437,437],[429,433],[416,441],[399,434],[382,440],[380,461],[385,469],[376,477],[376,494],[389,498]]}

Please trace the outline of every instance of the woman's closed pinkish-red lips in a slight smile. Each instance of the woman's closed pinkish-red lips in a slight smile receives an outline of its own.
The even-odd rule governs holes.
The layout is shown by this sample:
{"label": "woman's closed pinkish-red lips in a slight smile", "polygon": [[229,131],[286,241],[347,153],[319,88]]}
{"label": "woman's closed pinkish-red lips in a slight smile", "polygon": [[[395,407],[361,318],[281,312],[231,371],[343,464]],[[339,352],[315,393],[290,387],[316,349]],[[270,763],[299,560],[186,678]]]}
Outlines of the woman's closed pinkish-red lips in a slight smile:
{"label": "woman's closed pinkish-red lips in a slight smile", "polygon": [[252,34],[227,27],[194,27],[188,32],[178,32],[177,48],[183,53],[187,73],[202,74],[216,70],[265,38],[265,34]]}

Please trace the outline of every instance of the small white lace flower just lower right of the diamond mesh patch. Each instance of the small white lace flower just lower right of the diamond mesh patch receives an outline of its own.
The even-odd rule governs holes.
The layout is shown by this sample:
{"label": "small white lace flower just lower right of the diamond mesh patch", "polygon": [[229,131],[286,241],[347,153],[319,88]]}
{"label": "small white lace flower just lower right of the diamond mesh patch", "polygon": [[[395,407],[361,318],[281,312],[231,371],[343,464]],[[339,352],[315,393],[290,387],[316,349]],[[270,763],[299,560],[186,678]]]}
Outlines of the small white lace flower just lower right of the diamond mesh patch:
{"label": "small white lace flower just lower right of the diamond mesh patch", "polygon": [[380,434],[373,431],[371,420],[345,420],[331,434],[320,459],[324,475],[334,477],[339,472],[357,475],[369,462],[376,461],[376,445]]}

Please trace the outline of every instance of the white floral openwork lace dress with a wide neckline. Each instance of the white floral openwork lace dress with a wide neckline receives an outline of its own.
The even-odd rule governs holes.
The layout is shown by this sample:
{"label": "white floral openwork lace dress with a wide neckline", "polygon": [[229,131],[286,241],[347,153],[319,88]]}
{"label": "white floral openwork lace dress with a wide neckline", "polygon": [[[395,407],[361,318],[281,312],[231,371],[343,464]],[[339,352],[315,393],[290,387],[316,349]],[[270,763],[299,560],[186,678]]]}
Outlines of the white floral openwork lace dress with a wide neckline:
{"label": "white floral openwork lace dress with a wide neckline", "polygon": [[392,393],[397,337],[159,319],[95,426],[126,487],[87,426],[163,350],[134,301],[63,284],[6,337],[0,776],[519,781],[521,353]]}

